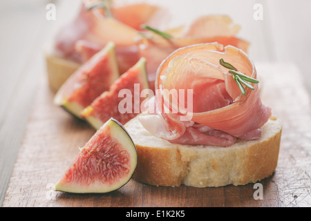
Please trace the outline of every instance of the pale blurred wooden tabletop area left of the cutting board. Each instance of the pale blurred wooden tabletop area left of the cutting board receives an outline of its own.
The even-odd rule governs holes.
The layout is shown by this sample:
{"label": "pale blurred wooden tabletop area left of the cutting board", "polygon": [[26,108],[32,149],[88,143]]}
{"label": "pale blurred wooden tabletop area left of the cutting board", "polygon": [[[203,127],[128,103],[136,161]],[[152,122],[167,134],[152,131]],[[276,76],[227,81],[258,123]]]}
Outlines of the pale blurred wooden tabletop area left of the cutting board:
{"label": "pale blurred wooden tabletop area left of the cutting board", "polygon": [[43,46],[75,13],[67,11],[69,6],[74,9],[77,6],[77,1],[72,0],[57,4],[59,20],[49,22],[47,3],[36,0],[1,3],[1,17],[5,19],[0,20],[0,205],[28,122],[38,77],[44,69]]}

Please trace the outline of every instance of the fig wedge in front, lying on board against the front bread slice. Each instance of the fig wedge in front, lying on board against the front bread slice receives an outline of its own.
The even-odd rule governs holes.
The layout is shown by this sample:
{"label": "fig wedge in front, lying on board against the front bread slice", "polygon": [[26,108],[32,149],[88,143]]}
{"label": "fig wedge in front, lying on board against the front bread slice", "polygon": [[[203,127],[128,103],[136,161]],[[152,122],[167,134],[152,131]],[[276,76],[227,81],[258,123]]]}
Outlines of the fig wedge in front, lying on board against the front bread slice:
{"label": "fig wedge in front, lying on board against the front bread slice", "polygon": [[55,191],[107,193],[124,186],[137,165],[137,151],[126,129],[109,119],[80,149]]}

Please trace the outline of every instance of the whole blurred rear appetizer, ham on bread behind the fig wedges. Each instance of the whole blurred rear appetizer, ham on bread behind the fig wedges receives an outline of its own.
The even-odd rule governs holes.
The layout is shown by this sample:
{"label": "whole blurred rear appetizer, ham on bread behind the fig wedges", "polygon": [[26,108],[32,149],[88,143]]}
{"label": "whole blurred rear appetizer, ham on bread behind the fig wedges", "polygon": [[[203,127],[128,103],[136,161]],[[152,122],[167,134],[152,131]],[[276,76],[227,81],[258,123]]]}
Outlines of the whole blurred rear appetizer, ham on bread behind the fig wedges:
{"label": "whole blurred rear appetizer, ham on bread behind the fig wedges", "polygon": [[[147,3],[126,5],[121,2],[84,0],[77,17],[57,32],[45,52],[48,80],[53,90],[58,90],[79,66],[109,41],[115,44],[121,75],[141,57],[147,59],[151,86],[162,60],[180,47],[217,41],[247,51],[248,43],[236,37],[240,27],[227,16],[199,17],[189,26],[164,30],[168,35],[162,36],[155,28],[168,10]],[[104,5],[107,3],[109,5]]]}

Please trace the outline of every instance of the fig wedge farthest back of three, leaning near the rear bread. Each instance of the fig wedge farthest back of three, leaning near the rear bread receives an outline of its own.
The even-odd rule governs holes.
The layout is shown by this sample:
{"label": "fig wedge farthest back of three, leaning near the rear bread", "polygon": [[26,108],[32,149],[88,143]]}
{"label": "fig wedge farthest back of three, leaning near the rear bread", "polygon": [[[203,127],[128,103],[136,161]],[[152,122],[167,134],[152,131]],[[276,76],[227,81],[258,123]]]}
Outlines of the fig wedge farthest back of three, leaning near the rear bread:
{"label": "fig wedge farthest back of three, leaning near the rear bread", "polygon": [[119,77],[115,44],[111,41],[65,81],[55,95],[54,104],[82,119],[83,109],[109,90]]}

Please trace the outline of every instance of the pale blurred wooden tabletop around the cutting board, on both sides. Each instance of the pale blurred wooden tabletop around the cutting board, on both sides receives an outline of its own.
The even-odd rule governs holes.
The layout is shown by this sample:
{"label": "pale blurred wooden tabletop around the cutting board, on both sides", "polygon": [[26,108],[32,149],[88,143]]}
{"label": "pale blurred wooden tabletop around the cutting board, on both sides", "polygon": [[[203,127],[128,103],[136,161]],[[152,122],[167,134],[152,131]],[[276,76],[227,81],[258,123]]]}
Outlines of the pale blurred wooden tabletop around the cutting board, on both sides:
{"label": "pale blurred wooden tabletop around the cutting board, on both sides", "polygon": [[[122,0],[119,0],[122,1]],[[133,2],[135,0],[127,1]],[[70,21],[81,1],[10,0],[0,2],[0,205],[6,193],[38,79],[45,77],[43,46]],[[256,62],[296,65],[311,92],[310,0],[146,0],[170,9],[167,26],[191,22],[200,15],[228,15],[241,26],[238,37],[249,41]],[[56,20],[46,19],[55,3]],[[263,20],[254,20],[254,5],[263,5]],[[294,81],[294,79],[293,79]],[[37,107],[39,108],[39,107]]]}

